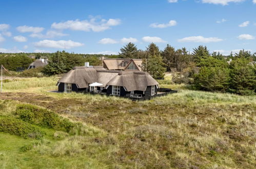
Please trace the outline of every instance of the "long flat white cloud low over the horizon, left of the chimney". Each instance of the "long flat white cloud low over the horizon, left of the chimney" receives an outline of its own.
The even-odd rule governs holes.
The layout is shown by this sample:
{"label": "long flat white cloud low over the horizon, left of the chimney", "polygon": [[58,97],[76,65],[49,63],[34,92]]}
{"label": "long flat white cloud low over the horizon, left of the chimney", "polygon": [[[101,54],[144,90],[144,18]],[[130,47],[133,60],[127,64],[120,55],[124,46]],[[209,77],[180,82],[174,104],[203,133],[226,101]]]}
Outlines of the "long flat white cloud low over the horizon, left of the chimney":
{"label": "long flat white cloud low over the horizon, left of the chimney", "polygon": [[78,43],[72,40],[41,40],[41,41],[37,41],[36,43],[34,43],[35,47],[40,47],[40,48],[58,48],[58,49],[70,49],[70,48],[74,48],[74,47],[81,47],[84,44],[82,43]]}

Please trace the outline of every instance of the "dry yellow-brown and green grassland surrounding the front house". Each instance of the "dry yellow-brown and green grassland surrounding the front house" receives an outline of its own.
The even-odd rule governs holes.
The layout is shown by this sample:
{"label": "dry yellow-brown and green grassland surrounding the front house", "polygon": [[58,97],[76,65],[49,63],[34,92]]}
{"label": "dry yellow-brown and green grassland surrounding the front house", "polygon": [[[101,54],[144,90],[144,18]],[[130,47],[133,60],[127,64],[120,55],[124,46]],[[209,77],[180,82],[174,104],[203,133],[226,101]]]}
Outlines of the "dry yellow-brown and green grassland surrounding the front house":
{"label": "dry yellow-brown and green grassland surrounding the front house", "polygon": [[190,91],[166,81],[162,87],[179,92],[134,102],[48,92],[56,90],[56,81],[44,77],[5,83],[8,93],[0,95],[0,115],[11,115],[21,102],[39,105],[83,122],[85,134],[44,129],[48,135],[21,152],[35,140],[0,133],[1,168],[255,167],[255,96]]}

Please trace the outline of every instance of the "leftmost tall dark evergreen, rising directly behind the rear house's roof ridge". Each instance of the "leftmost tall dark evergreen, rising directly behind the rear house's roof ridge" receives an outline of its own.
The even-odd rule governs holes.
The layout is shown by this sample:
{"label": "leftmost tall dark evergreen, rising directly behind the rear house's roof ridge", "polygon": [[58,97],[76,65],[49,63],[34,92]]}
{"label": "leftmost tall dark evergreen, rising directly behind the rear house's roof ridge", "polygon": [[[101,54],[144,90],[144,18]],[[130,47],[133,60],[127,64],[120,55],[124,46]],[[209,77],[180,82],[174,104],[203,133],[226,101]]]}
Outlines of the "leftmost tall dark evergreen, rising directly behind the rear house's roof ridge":
{"label": "leftmost tall dark evergreen, rising directly behind the rear house's roof ridge", "polygon": [[119,53],[121,58],[137,58],[137,47],[133,43],[128,43],[126,46],[120,49]]}

